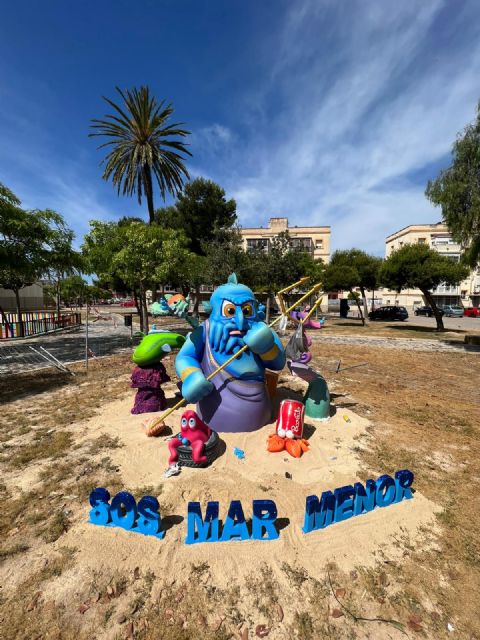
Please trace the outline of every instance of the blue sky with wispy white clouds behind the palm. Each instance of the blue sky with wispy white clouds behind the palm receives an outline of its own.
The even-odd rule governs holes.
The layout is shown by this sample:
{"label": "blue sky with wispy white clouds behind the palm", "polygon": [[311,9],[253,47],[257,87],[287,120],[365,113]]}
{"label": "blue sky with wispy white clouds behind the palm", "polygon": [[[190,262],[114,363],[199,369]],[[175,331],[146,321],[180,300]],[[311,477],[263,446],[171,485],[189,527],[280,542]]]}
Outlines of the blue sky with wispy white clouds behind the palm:
{"label": "blue sky with wispy white clouds behind the palm", "polygon": [[0,181],[79,241],[90,219],[146,218],[87,137],[116,85],[173,103],[191,175],[244,226],[327,224],[334,249],[380,255],[441,219],[425,183],[480,98],[477,0],[1,0],[0,17]]}

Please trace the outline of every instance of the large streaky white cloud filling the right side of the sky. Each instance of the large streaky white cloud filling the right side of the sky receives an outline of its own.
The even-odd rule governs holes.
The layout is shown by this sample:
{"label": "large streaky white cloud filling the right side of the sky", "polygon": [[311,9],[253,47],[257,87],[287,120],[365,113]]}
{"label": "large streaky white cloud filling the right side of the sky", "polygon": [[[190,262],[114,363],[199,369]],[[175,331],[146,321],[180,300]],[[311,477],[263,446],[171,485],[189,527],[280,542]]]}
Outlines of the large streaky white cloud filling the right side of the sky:
{"label": "large streaky white cloud filling the right side of the sky", "polygon": [[[440,218],[425,185],[408,176],[446,158],[474,116],[480,8],[466,2],[448,13],[452,5],[441,1],[292,7],[272,39],[270,73],[252,111],[267,120],[255,129],[252,117],[249,139],[232,143],[236,167],[218,173],[246,225],[269,215],[331,224],[334,247],[382,253],[395,229]],[[393,178],[395,188],[383,189]]]}

